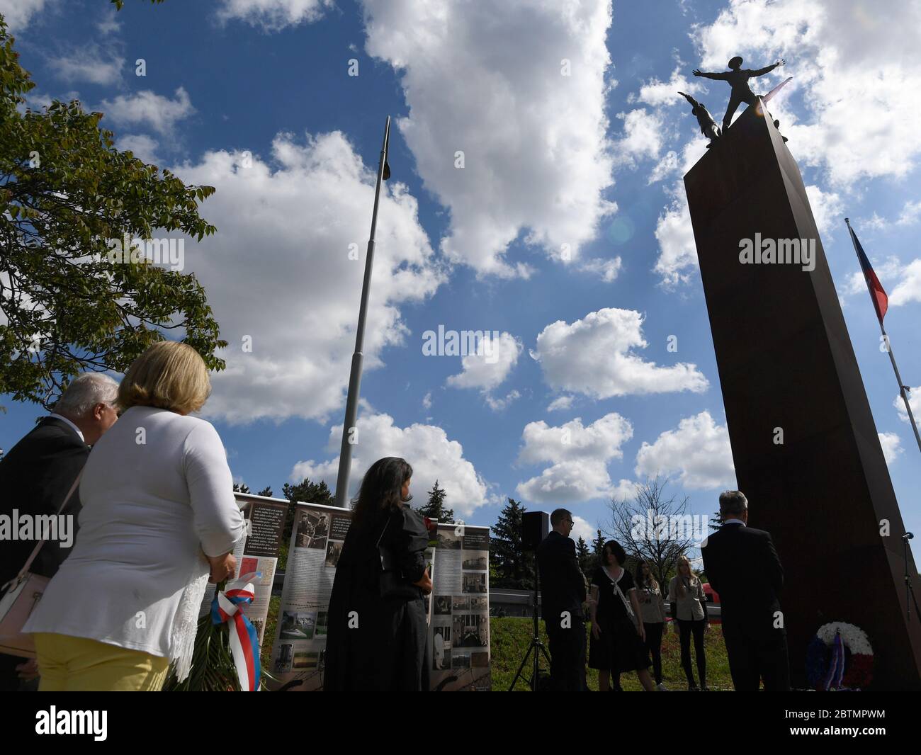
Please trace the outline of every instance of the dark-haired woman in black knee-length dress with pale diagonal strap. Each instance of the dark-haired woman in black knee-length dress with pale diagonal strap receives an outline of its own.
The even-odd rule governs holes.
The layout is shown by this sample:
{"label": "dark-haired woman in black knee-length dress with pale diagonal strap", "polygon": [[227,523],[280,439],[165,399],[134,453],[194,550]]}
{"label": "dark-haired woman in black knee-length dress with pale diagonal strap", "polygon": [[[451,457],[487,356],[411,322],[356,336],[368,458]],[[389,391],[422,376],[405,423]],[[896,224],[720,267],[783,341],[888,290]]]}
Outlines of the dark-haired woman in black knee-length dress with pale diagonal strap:
{"label": "dark-haired woman in black knee-length dress with pale diagonal strap", "polygon": [[591,575],[589,668],[598,669],[599,691],[610,691],[610,675],[635,671],[643,689],[656,690],[649,676],[646,634],[633,576],[624,569],[626,553],[616,540],[601,549],[601,565]]}

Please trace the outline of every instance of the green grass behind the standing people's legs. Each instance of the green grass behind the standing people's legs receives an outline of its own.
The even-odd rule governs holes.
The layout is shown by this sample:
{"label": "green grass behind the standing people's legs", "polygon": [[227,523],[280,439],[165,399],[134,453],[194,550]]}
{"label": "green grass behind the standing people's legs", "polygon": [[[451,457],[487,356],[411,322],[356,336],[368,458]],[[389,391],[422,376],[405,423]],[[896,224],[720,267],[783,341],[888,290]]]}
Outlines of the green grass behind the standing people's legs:
{"label": "green grass behind the standing people's legs", "polygon": [[[271,668],[272,644],[275,637],[275,623],[278,619],[278,605],[281,599],[272,598],[269,604],[269,615],[265,621],[265,641],[262,644],[262,668]],[[489,620],[490,638],[493,654],[493,691],[506,691],[511,684],[512,677],[519,668],[521,658],[530,643],[530,619],[496,619]],[[543,621],[540,622],[541,639],[546,645],[547,636],[543,632]],[[723,633],[719,624],[711,624],[710,630],[704,636],[706,647],[706,681],[707,686],[713,691],[732,690],[732,680],[729,677],[729,661],[726,658],[726,645],[723,644]],[[587,645],[588,647],[588,645]],[[691,657],[694,659],[694,646],[692,644]],[[530,666],[530,664],[529,664]],[[546,662],[542,668],[547,668]],[[549,669],[548,669],[549,670]],[[589,668],[589,690],[598,690],[598,672]],[[694,679],[697,683],[697,667],[694,666]],[[687,690],[687,681],[681,665],[681,647],[678,637],[671,632],[662,637],[662,680],[670,690]],[[639,682],[635,674],[621,676],[621,686],[624,691],[640,691]],[[515,689],[525,691],[528,685],[519,680]]]}

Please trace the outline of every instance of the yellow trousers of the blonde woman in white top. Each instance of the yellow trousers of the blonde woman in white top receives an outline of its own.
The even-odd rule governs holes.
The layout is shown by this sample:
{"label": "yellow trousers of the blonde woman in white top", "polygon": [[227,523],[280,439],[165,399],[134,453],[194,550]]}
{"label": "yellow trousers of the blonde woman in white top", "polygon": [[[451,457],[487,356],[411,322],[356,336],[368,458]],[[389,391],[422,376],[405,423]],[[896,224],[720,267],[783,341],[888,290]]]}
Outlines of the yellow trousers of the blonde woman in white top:
{"label": "yellow trousers of the blonde woman in white top", "polygon": [[85,637],[37,632],[40,692],[159,691],[169,658]]}

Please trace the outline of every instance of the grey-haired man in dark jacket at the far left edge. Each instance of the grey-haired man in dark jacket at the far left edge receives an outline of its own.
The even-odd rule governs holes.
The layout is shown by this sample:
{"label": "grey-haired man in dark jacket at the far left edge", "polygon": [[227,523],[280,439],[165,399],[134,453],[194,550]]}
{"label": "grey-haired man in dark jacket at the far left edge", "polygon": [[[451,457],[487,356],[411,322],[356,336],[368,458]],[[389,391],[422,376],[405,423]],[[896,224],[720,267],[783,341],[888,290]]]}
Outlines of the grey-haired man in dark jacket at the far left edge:
{"label": "grey-haired man in dark jacket at the far left edge", "polygon": [[[22,521],[30,517],[54,517],[64,496],[87,463],[89,447],[118,419],[118,383],[99,372],[75,377],[54,405],[50,416],[38,424],[0,459],[0,515]],[[16,509],[16,515],[14,515]],[[29,571],[51,577],[71,552],[80,512],[79,491],[61,512],[68,517],[69,537],[45,543]],[[29,558],[41,534],[33,527],[34,540],[10,540],[0,548],[0,586],[13,579]],[[0,655],[0,691],[22,689],[22,680],[36,675],[35,662]]]}

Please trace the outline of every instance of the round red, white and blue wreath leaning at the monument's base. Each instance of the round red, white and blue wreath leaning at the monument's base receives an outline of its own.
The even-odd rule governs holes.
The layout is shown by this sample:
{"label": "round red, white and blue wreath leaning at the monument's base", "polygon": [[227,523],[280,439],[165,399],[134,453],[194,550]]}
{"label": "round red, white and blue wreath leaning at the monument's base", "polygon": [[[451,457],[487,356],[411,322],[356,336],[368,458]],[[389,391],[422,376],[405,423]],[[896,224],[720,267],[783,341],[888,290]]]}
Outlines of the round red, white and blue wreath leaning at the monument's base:
{"label": "round red, white and blue wreath leaning at the monument's base", "polygon": [[[840,637],[840,648],[836,649]],[[833,668],[842,663],[843,669]],[[806,649],[806,677],[814,690],[860,690],[873,679],[873,648],[860,627],[844,621],[823,624]]]}

